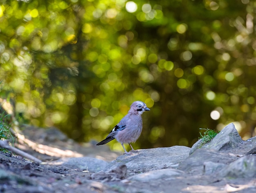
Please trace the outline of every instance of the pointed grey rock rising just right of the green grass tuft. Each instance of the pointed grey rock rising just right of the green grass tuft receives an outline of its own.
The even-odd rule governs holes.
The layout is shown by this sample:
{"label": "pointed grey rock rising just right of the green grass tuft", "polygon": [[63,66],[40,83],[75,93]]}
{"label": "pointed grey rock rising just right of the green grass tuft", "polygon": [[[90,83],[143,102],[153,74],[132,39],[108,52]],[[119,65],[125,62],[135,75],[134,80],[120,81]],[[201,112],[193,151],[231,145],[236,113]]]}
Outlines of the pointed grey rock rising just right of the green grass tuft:
{"label": "pointed grey rock rising just right of the green grass tuft", "polygon": [[[204,144],[202,148],[213,149],[217,151],[227,150],[231,148],[236,148],[243,142],[242,138],[238,134],[233,123],[225,126],[220,133],[218,133],[215,138],[213,138],[209,143]],[[197,144],[197,143],[196,143]],[[195,146],[191,149],[190,154],[196,150]]]}

